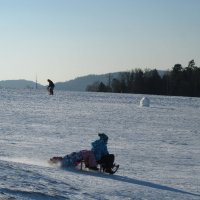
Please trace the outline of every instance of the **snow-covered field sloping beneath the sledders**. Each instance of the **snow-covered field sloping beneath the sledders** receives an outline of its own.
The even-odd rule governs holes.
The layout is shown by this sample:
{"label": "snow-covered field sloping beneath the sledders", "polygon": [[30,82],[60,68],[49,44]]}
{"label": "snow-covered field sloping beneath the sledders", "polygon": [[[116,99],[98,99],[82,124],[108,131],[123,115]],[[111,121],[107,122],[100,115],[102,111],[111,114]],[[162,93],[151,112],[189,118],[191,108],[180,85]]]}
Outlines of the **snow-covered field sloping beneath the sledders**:
{"label": "snow-covered field sloping beneath the sledders", "polygon": [[[0,90],[0,199],[200,199],[200,99]],[[48,159],[90,149],[98,132],[115,175],[63,170]]]}

